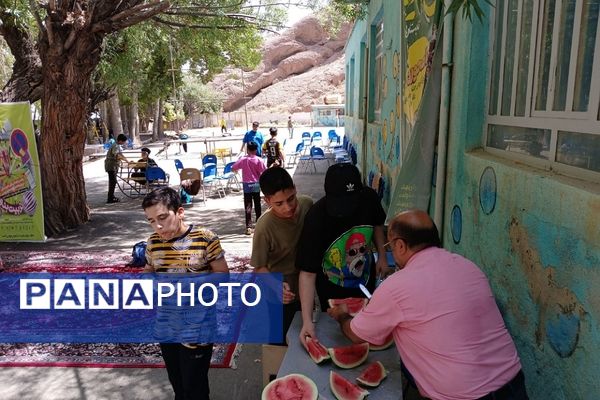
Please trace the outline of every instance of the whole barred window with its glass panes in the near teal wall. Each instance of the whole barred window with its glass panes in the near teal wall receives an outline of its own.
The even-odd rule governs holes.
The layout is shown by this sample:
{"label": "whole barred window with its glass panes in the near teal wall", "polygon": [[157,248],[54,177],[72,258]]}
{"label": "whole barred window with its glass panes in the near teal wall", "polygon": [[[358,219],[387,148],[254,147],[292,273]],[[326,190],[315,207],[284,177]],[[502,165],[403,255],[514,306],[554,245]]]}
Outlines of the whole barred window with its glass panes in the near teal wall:
{"label": "whole barred window with its glass panes in the near teal wall", "polygon": [[497,0],[493,13],[486,149],[597,179],[600,0]]}

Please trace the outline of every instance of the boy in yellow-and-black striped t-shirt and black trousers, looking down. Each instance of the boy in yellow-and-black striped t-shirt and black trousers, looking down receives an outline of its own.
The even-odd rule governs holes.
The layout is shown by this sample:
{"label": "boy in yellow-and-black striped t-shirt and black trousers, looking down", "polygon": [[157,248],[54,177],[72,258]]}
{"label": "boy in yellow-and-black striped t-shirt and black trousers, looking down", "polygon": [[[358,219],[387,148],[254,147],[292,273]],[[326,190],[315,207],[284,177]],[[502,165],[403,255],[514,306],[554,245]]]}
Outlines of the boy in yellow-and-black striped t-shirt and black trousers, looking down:
{"label": "boy in yellow-and-black striped t-shirt and black trousers, looking down", "polygon": [[[219,237],[188,225],[177,191],[161,188],[148,193],[142,208],[154,234],[146,247],[147,272],[229,272]],[[209,399],[208,368],[212,343],[161,343],[175,398]]]}

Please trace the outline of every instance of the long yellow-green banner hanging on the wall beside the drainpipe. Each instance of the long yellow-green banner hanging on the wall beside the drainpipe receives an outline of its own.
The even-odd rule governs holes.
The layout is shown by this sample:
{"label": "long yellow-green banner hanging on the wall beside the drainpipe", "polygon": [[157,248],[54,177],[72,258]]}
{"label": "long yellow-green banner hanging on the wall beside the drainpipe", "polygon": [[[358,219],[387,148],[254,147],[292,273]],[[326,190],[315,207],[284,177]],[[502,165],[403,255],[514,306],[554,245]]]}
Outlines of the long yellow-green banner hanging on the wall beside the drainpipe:
{"label": "long yellow-green banner hanging on the wall beside the drainpipe", "polygon": [[404,1],[402,98],[404,129],[410,139],[392,191],[388,219],[403,210],[429,208],[442,64],[441,48],[435,51],[442,14],[438,3],[437,0]]}

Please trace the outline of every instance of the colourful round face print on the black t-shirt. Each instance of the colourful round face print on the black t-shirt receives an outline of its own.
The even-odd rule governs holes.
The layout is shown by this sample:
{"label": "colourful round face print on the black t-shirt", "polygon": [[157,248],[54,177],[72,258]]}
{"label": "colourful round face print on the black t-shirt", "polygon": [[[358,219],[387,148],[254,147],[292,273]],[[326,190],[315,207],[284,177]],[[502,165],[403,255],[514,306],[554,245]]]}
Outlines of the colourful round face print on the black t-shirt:
{"label": "colourful round face print on the black t-shirt", "polygon": [[327,249],[323,271],[329,280],[343,287],[357,288],[367,284],[371,269],[370,244],[373,227],[358,226],[341,235]]}

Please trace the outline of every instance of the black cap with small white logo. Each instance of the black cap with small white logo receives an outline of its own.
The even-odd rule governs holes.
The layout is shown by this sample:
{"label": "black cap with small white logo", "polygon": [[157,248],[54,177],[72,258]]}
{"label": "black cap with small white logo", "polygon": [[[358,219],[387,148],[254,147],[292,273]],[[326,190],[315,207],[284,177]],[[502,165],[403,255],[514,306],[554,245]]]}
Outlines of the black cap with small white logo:
{"label": "black cap with small white logo", "polygon": [[325,174],[327,214],[347,217],[358,209],[363,184],[360,172],[352,164],[334,164]]}

